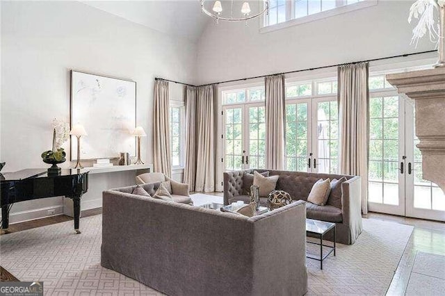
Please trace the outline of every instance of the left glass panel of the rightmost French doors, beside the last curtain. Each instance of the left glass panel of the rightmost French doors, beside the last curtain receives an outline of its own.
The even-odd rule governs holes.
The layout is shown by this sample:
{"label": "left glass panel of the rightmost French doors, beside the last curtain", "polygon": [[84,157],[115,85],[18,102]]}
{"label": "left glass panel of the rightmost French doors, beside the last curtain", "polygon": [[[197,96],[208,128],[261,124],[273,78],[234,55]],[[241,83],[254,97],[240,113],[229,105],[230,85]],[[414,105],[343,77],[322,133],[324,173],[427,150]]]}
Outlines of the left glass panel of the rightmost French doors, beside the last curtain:
{"label": "left glass panel of the rightmost French doors, beside the last curtain", "polygon": [[369,99],[370,211],[405,213],[405,172],[401,171],[405,161],[404,122],[404,106],[399,106],[398,96]]}

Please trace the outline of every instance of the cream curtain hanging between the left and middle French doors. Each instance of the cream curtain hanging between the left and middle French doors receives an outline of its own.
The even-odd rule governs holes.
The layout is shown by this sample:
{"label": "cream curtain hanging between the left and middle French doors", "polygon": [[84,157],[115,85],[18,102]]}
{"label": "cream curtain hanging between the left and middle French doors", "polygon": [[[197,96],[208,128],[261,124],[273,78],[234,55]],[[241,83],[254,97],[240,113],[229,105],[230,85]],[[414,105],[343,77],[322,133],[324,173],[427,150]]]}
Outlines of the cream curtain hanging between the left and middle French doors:
{"label": "cream curtain hanging between the left and middle French doors", "polygon": [[286,104],[284,76],[267,76],[266,85],[266,165],[268,169],[284,168]]}

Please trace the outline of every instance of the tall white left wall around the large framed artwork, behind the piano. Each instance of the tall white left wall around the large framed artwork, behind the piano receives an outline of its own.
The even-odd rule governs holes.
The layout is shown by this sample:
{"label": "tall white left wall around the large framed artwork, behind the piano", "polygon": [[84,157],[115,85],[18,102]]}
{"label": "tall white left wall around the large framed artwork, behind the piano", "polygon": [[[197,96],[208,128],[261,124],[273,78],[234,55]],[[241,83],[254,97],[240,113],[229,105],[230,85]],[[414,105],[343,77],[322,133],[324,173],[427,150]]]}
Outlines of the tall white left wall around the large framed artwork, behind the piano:
{"label": "tall white left wall around the large framed artwork, behind the piano", "polygon": [[[47,167],[40,154],[51,147],[51,120],[70,120],[70,69],[137,82],[136,120],[148,135],[142,142],[143,161],[152,163],[154,77],[193,83],[196,49],[189,40],[84,3],[2,1],[0,160],[7,163],[3,172]],[[181,95],[177,86],[172,88]],[[69,142],[65,143],[69,154],[68,148]],[[70,162],[61,166],[69,167]],[[131,174],[113,173],[99,179],[95,175],[95,183],[116,187],[132,180]],[[97,202],[101,198],[86,196],[86,204],[88,199]],[[61,198],[21,202],[13,206],[13,213],[35,217],[46,208],[56,208],[59,213],[62,204]],[[44,211],[37,211],[39,208]],[[14,222],[14,215],[11,220]]]}

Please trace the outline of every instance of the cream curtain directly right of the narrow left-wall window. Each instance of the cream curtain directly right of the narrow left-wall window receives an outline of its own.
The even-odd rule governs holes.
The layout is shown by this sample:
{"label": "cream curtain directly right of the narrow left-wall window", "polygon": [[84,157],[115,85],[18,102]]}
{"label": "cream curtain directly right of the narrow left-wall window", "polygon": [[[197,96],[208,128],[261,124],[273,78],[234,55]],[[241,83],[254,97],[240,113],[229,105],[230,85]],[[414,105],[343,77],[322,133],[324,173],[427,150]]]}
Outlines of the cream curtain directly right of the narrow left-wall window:
{"label": "cream curtain directly right of the narrow left-wall window", "polygon": [[188,183],[190,191],[195,191],[196,181],[196,99],[197,89],[186,86],[186,161],[184,167],[184,183]]}

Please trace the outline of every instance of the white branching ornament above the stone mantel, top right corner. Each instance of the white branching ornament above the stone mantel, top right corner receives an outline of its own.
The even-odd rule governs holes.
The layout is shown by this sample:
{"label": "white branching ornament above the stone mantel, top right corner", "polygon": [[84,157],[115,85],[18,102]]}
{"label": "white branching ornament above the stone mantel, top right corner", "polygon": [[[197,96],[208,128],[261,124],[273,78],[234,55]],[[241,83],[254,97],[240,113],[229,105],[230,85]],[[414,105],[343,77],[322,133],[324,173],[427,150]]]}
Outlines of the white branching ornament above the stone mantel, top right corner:
{"label": "white branching ornament above the stone mantel, top right corner", "polygon": [[[439,11],[439,22],[434,18],[434,10]],[[445,0],[417,0],[410,8],[410,17],[419,19],[419,23],[412,30],[412,43],[419,42],[428,31],[431,42],[436,42],[439,52],[439,60],[434,67],[445,67]],[[436,29],[438,27],[438,30]]]}

